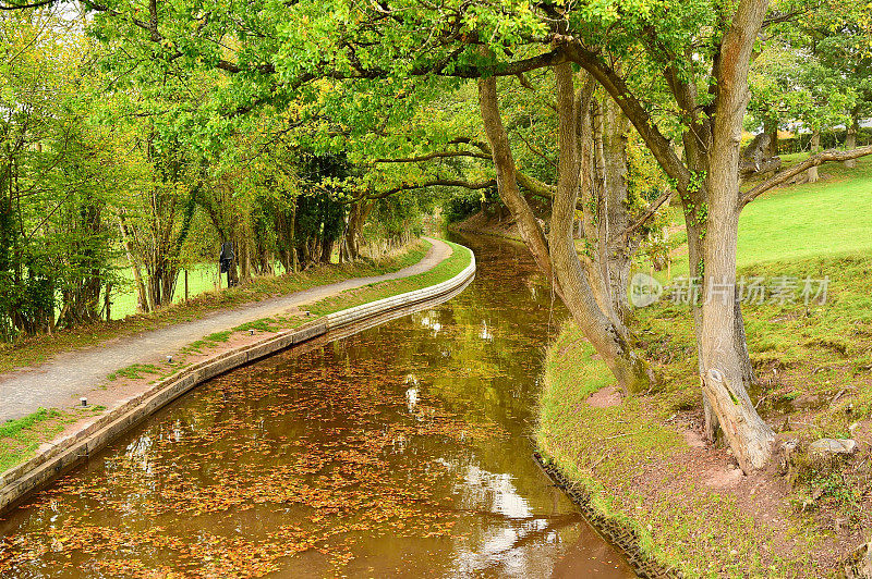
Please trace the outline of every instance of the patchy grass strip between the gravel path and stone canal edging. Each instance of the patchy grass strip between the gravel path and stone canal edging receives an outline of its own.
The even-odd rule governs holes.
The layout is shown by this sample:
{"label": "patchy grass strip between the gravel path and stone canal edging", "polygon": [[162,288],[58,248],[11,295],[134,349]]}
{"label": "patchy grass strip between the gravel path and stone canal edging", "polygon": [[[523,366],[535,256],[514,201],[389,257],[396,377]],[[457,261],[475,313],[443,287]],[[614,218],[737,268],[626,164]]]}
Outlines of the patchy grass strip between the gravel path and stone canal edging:
{"label": "patchy grass strip between the gravel path and stone canal edging", "polygon": [[[261,332],[278,332],[279,330],[295,328],[304,322],[315,320],[335,311],[444,282],[463,271],[463,269],[470,264],[472,258],[472,252],[465,247],[451,243],[449,243],[449,245],[453,249],[451,256],[429,271],[400,280],[390,280],[355,290],[349,290],[336,296],[324,298],[304,308],[311,313],[311,316],[305,318],[265,318],[223,332],[209,334],[182,348],[179,355],[174,357],[172,364],[160,364],[157,366],[135,364],[113,372],[107,377],[107,380],[112,382],[116,380],[130,379],[149,380],[154,382],[167,378],[187,366],[189,358],[193,355],[211,355],[219,352],[234,333],[245,334],[252,329]],[[428,248],[429,244],[422,242],[405,251],[402,256],[393,258],[392,263],[395,270],[420,261]],[[370,268],[373,266],[366,267]],[[385,266],[383,264],[379,267],[384,268]],[[383,273],[385,271],[383,271]],[[40,444],[55,438],[69,423],[75,422],[82,418],[84,416],[83,412],[87,412],[87,416],[95,416],[105,410],[106,408],[98,406],[76,410],[58,410],[55,408],[47,410],[40,408],[27,417],[0,424],[0,472],[33,457]]]}

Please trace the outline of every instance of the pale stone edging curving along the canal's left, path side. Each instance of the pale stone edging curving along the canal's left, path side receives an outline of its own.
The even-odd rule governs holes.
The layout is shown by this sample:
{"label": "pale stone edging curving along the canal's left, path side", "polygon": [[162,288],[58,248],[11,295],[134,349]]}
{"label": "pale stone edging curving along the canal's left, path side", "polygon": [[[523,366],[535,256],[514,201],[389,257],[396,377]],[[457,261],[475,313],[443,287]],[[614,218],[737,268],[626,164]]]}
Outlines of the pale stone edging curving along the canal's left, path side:
{"label": "pale stone edging curving along the canal's left, path side", "polygon": [[339,338],[353,333],[342,332],[352,325],[370,322],[367,327],[371,327],[391,319],[391,312],[404,311],[410,306],[460,293],[475,275],[475,256],[469,248],[463,249],[470,251],[470,264],[450,280],[329,313],[300,328],[272,334],[255,344],[216,354],[156,382],[147,391],[124,401],[109,412],[84,424],[75,433],[44,445],[35,457],[0,475],[0,514],[197,384],[282,349],[324,336],[328,332],[339,330],[335,336]]}

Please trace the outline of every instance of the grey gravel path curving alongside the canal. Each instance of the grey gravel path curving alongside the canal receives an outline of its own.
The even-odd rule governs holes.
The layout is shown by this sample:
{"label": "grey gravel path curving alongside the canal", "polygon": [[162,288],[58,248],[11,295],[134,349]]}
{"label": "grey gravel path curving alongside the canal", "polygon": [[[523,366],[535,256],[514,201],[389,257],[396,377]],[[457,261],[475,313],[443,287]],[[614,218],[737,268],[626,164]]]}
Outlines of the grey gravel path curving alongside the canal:
{"label": "grey gravel path curving alongside the canal", "polygon": [[451,247],[438,239],[424,258],[393,273],[354,278],[255,301],[231,310],[216,311],[201,319],[182,322],[135,335],[118,337],[95,346],[65,352],[36,367],[0,374],[0,422],[21,418],[39,407],[68,408],[80,396],[107,380],[107,377],[132,364],[154,364],[205,335],[229,330],[245,322],[270,318],[318,301],[347,290],[371,283],[397,280],[423,273],[451,255]]}

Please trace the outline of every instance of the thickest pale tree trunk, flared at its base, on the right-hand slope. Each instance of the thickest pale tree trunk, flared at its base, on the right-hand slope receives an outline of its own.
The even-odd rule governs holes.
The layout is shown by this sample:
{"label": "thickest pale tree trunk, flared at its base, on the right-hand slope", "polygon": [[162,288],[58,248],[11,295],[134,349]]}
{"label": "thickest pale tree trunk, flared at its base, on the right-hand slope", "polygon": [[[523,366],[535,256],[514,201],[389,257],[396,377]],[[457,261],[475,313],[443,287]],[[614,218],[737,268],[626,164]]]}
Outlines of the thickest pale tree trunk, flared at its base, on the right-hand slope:
{"label": "thickest pale tree trunk, flared at its base, on the right-hand slope", "polygon": [[[765,0],[741,2],[722,44],[715,71],[715,100],[708,172],[703,182],[707,202],[702,237],[705,298],[698,328],[702,387],[730,448],[746,472],[772,458],[775,434],[748,396],[743,362],[737,352],[736,248],[739,232],[739,141],[748,106],[748,67],[753,38],[766,11]],[[690,232],[689,232],[690,233]]]}

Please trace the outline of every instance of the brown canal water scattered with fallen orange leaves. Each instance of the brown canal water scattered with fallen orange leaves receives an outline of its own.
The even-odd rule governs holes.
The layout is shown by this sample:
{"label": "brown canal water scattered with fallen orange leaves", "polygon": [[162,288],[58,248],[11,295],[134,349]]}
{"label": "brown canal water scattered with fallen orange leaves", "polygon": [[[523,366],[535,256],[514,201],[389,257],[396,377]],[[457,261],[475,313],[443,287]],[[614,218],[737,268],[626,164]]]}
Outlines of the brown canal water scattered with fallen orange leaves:
{"label": "brown canal water scattered with fallen orange leaves", "polygon": [[525,250],[219,377],[0,520],[2,577],[632,577],[531,458],[565,312]]}

